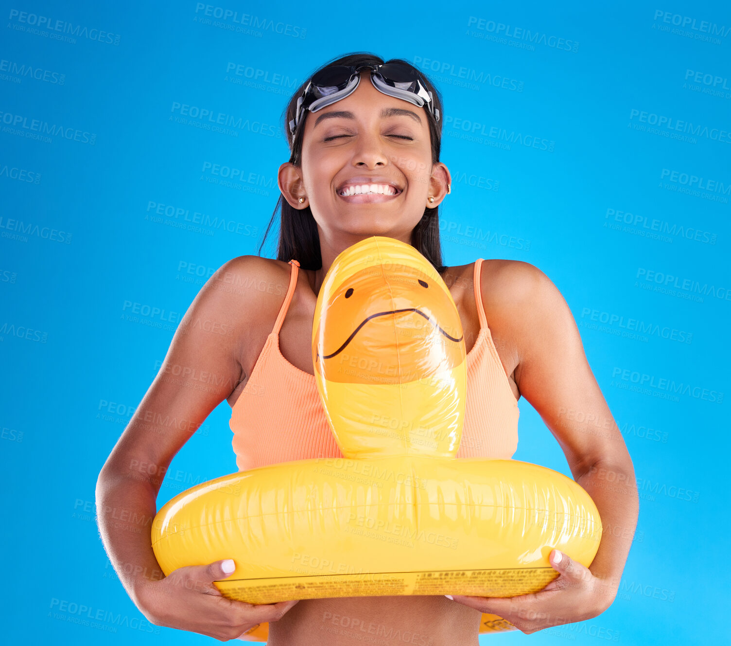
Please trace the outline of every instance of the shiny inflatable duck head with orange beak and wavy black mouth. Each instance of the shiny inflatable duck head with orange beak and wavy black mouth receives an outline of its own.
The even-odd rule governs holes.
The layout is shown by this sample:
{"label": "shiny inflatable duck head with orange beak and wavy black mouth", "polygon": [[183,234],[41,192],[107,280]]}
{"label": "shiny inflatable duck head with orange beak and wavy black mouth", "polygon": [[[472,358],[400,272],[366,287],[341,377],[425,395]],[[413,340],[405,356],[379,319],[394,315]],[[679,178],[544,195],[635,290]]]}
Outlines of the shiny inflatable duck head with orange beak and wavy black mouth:
{"label": "shiny inflatable duck head with orange beak and wavy black mouth", "polygon": [[341,252],[317,296],[315,380],[345,457],[455,457],[466,352],[447,285],[414,247],[371,236]]}

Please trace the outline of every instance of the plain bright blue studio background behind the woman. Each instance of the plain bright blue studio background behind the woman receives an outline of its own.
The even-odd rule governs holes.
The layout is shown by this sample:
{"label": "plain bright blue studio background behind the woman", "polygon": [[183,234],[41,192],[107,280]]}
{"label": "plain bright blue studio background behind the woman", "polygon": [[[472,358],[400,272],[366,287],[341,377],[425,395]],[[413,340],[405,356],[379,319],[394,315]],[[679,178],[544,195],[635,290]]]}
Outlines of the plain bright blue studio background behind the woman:
{"label": "plain bright blue studio background behind the woman", "polygon": [[[404,10],[390,4],[385,13],[341,6],[333,20],[321,20],[307,3],[210,5],[263,20],[250,34],[235,31],[240,23],[232,20],[223,22],[233,31],[213,24],[215,18],[205,23],[205,10],[194,2],[0,5],[8,643],[40,635],[75,644],[208,642],[169,628],[145,631],[150,626],[97,535],[96,476],[205,279],[230,258],[257,253],[279,195],[277,168],[289,159],[280,127],[289,95],[308,72],[356,50],[409,59],[442,91],[442,161],[453,180],[440,209],[445,263],[524,260],[553,280],[640,478],[637,534],[613,606],[584,623],[480,641],[724,640],[727,3],[634,1],[588,9],[523,1]],[[69,37],[31,26],[34,19],[19,12],[111,35],[102,42],[91,31]],[[678,33],[673,21],[683,18],[694,23]],[[703,20],[724,31],[709,35]],[[289,29],[281,29],[285,24]],[[546,41],[532,44],[516,29]],[[229,64],[243,71],[227,75]],[[38,78],[18,73],[23,65],[40,70]],[[254,81],[257,71],[262,78]],[[205,119],[181,123],[177,103],[240,117],[249,127],[226,134],[206,129]],[[32,138],[29,127],[14,125],[16,117],[26,126],[38,119],[72,129],[72,138]],[[667,125],[652,130],[647,121],[656,117],[708,130],[673,138],[678,131]],[[502,131],[536,146],[491,136]],[[239,169],[244,181],[227,185],[213,165]],[[199,211],[235,226],[188,228],[170,211],[156,215],[156,205],[164,205],[163,213]],[[29,232],[17,230],[18,221]],[[653,227],[664,233],[648,236]],[[263,253],[273,257],[275,249],[276,231]],[[128,301],[166,315],[126,320]],[[178,312],[175,323],[164,320],[167,312]],[[619,323],[602,323],[613,315],[625,324],[632,318],[667,334],[675,330],[677,338],[622,336]],[[638,390],[640,375],[655,386]],[[663,379],[692,389],[668,397],[657,386]],[[515,459],[570,476],[537,413],[522,398],[519,406]],[[236,470],[229,416],[222,402],[175,457],[158,506],[189,487],[181,486],[185,481]],[[54,599],[142,619],[143,628],[94,629],[58,619]]]}

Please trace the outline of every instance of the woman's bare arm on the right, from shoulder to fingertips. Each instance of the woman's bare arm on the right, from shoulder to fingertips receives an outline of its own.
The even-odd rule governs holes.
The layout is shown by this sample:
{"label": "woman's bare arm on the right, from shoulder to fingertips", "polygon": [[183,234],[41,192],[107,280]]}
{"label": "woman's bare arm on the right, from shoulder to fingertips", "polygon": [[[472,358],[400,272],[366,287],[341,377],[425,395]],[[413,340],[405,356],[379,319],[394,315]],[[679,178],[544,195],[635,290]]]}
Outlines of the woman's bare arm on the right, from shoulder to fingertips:
{"label": "woman's bare arm on the right, from shoulder to fingertips", "polygon": [[[487,278],[487,277],[485,277]],[[518,353],[520,394],[558,440],[575,481],[594,500],[602,540],[589,568],[550,554],[560,574],[538,593],[512,598],[454,596],[503,617],[526,634],[591,619],[614,601],[637,526],[635,470],[594,374],[571,309],[553,282],[529,263],[504,261],[483,283],[485,312]],[[503,331],[505,333],[503,334]]]}

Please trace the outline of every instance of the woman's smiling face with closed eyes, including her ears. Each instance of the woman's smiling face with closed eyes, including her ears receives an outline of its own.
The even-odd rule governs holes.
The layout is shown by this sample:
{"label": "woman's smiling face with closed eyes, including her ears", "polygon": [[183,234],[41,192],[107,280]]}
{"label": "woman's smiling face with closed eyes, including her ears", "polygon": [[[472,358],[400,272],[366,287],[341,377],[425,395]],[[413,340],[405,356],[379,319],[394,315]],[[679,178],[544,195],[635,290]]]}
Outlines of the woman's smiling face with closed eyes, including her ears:
{"label": "woman's smiling face with closed eyes, including her ears", "polygon": [[[322,247],[373,235],[410,244],[425,207],[438,206],[451,181],[444,164],[431,163],[425,108],[379,92],[363,70],[349,97],[308,113],[304,126],[301,167],[289,165],[280,187],[289,185],[295,208],[310,206]],[[363,184],[387,184],[395,195],[343,195]]]}

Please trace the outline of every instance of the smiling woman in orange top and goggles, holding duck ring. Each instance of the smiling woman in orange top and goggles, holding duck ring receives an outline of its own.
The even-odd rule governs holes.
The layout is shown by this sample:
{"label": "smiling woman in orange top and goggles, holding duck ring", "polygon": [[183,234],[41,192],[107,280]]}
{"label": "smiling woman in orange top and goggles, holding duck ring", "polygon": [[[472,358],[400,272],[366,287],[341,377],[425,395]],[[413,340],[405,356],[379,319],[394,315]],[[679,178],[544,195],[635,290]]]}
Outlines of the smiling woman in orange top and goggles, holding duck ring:
{"label": "smiling woman in orange top and goggles, holding duck ring", "polygon": [[[279,169],[286,202],[278,259],[234,258],[200,290],[99,475],[97,508],[107,552],[135,604],[158,626],[223,641],[270,622],[268,643],[274,646],[352,643],[363,632],[382,642],[408,635],[415,644],[477,645],[482,612],[531,633],[596,617],[616,596],[637,523],[634,471],[569,307],[529,263],[478,259],[442,266],[437,207],[451,178],[439,162],[439,92],[406,61],[376,67],[381,64],[369,53],[330,61],[292,97],[284,119],[292,157]],[[336,78],[336,66],[353,69]],[[512,457],[517,399],[526,397],[599,509],[605,533],[591,567],[553,550],[558,578],[539,593],[514,598],[376,596],[260,606],[220,595],[213,581],[229,576],[227,560],[163,577],[148,531],[157,492],[175,454],[223,399],[232,406],[240,469],[340,455],[317,409],[314,307],[338,253],[373,235],[412,244],[442,275],[457,305],[468,395],[474,393],[467,397],[457,457]],[[200,320],[233,333],[205,331],[211,326]],[[208,389],[166,380],[176,365],[213,375]],[[170,426],[162,421],[167,416],[184,421]],[[120,509],[146,519],[145,531],[115,525]]]}

